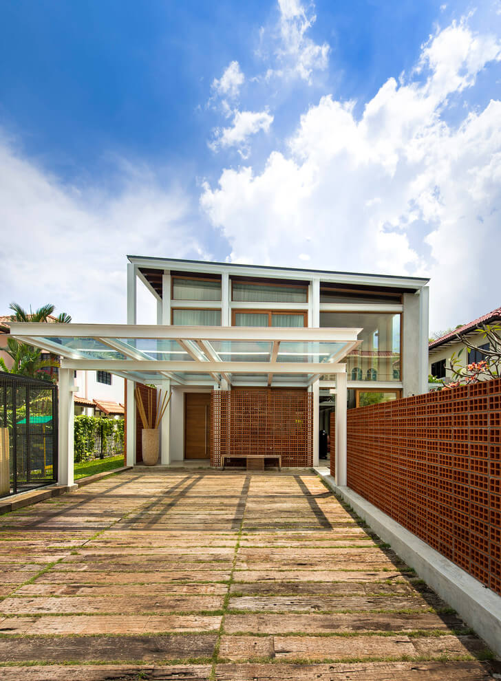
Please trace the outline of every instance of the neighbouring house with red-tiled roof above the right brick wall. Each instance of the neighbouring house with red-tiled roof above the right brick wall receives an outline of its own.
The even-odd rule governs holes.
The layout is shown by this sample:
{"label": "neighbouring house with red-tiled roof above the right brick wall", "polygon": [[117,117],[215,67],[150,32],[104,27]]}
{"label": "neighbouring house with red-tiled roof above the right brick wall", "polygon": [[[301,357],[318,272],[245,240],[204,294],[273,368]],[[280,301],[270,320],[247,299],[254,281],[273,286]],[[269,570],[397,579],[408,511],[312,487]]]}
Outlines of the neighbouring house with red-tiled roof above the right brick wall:
{"label": "neighbouring house with red-tiled roof above the right brick wall", "polygon": [[[452,371],[450,369],[451,358],[453,354],[458,356],[458,352],[463,349],[459,356],[458,367],[466,367],[472,362],[480,362],[484,358],[482,349],[488,350],[489,343],[480,334],[479,329],[482,324],[492,325],[501,323],[501,307],[496,307],[492,312],[488,312],[478,319],[474,319],[469,324],[462,325],[454,331],[445,334],[441,338],[431,341],[428,348],[428,373],[436,378],[451,379]],[[478,350],[470,350],[461,343],[457,334],[466,336],[470,343],[476,345]]]}

